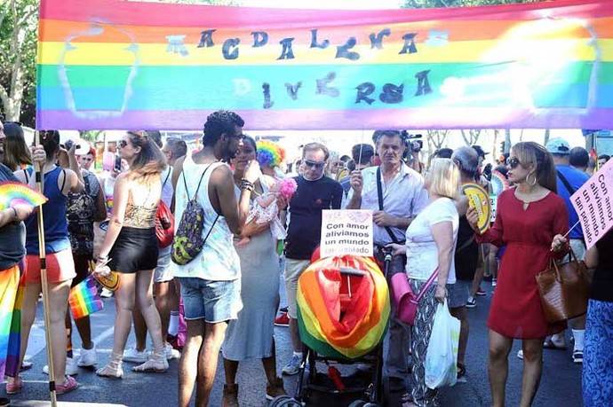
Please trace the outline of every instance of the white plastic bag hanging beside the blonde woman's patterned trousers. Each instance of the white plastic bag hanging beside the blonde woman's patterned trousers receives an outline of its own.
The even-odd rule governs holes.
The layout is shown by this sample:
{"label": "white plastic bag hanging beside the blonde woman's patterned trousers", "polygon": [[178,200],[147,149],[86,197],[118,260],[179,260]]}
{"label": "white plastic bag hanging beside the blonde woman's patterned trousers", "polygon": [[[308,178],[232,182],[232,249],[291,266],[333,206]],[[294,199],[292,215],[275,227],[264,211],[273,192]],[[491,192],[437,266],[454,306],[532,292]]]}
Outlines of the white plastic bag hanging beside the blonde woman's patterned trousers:
{"label": "white plastic bag hanging beside the blonde woman's patterned trousers", "polygon": [[458,341],[460,322],[451,317],[447,300],[434,313],[434,324],[426,350],[426,386],[453,386],[458,379]]}

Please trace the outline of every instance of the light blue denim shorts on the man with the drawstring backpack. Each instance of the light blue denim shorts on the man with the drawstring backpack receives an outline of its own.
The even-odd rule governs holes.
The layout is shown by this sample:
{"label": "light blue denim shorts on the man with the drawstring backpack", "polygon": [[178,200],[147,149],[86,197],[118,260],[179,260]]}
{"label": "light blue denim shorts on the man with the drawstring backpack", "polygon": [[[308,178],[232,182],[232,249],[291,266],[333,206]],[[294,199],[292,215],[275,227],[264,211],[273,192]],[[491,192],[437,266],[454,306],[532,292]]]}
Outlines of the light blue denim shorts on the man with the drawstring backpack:
{"label": "light blue denim shorts on the man with the drawstring backpack", "polygon": [[243,309],[241,280],[213,281],[179,277],[187,320],[204,319],[210,324],[236,319]]}

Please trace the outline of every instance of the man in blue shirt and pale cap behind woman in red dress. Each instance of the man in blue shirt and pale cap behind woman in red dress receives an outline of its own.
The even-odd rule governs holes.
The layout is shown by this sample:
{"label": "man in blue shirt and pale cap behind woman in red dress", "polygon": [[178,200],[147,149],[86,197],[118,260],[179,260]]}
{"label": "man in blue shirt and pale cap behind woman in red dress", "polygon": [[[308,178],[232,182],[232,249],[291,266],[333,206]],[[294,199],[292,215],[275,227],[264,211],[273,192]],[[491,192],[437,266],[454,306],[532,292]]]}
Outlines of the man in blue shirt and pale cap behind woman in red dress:
{"label": "man in blue shirt and pale cap behind woman in red dress", "polygon": [[[575,208],[570,202],[570,196],[577,192],[581,185],[589,179],[584,172],[570,166],[570,146],[561,138],[552,138],[547,142],[546,149],[553,155],[553,162],[558,178],[558,195],[566,203],[569,211],[569,241],[573,252],[577,254],[577,259],[583,259],[585,255],[585,241],[581,224],[578,223],[579,217]],[[583,363],[583,337],[585,333],[585,316],[569,320],[575,338],[575,348],[573,350],[573,361],[576,364]],[[551,340],[545,340],[545,347],[564,348],[564,334],[553,335]]]}

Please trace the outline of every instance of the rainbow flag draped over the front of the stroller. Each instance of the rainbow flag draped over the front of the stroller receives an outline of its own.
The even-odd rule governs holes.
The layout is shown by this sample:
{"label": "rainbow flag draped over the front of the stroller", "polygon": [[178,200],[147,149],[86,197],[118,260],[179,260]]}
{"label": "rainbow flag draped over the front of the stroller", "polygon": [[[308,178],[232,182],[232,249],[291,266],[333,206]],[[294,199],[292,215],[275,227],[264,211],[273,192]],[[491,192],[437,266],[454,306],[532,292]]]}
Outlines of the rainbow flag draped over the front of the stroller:
{"label": "rainbow flag draped over the front of the stroller", "polygon": [[[347,276],[340,267],[366,271]],[[352,359],[377,347],[390,314],[386,278],[377,263],[346,255],[313,262],[298,280],[300,340],[323,356]]]}

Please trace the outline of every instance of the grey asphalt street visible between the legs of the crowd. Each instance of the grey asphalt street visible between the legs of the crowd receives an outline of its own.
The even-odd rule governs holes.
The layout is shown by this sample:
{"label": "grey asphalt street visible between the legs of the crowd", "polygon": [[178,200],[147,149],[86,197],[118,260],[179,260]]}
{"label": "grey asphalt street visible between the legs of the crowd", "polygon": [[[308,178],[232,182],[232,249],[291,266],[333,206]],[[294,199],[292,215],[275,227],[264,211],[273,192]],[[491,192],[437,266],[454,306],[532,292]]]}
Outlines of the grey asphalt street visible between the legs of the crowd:
{"label": "grey asphalt street visible between the legs of the crowd", "polygon": [[[442,389],[443,406],[485,406],[490,405],[490,388],[487,376],[487,329],[485,320],[490,304],[490,283],[483,283],[488,295],[479,297],[475,309],[469,310],[471,334],[466,358],[467,383]],[[282,285],[283,291],[283,285]],[[282,293],[282,297],[284,297]],[[283,303],[283,299],[282,299]],[[99,364],[104,364],[110,355],[113,340],[115,307],[113,299],[105,300],[105,309],[92,316],[92,336],[98,346]],[[74,333],[74,346],[80,347],[78,334]],[[291,356],[290,338],[287,328],[275,327],[277,344],[277,365],[279,371]],[[129,340],[133,346],[133,336]],[[506,404],[518,405],[521,396],[521,360],[516,357],[520,343],[515,341],[509,356],[509,377]],[[42,303],[36,317],[36,325],[29,340],[28,357],[34,367],[22,373],[25,381],[23,393],[12,396],[12,405],[49,405],[47,376],[42,372],[46,363],[44,349]],[[60,402],[84,403],[84,405],[125,405],[125,406],[174,406],[177,405],[178,361],[173,360],[165,373],[131,372],[131,364],[124,364],[123,380],[102,379],[93,371],[80,369],[76,379],[80,387],[68,394],[60,395]],[[350,370],[352,368],[349,368]],[[347,372],[342,369],[341,372]],[[297,376],[286,377],[286,389],[292,393]],[[247,361],[240,365],[238,373],[239,400],[243,406],[266,406],[266,381],[259,361]],[[217,379],[211,395],[211,406],[219,406],[223,386],[223,367],[219,364]],[[0,391],[4,395],[4,387]],[[64,403],[60,403],[64,404]],[[315,405],[337,405],[333,401],[320,401]],[[545,350],[543,378],[535,406],[577,407],[581,406],[581,366],[571,362],[570,350]]]}

